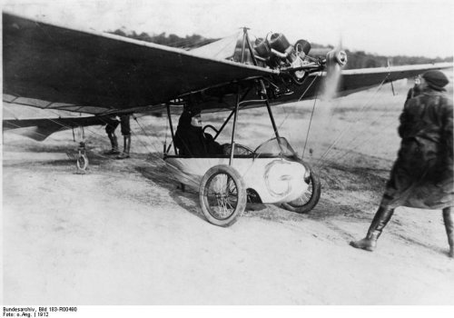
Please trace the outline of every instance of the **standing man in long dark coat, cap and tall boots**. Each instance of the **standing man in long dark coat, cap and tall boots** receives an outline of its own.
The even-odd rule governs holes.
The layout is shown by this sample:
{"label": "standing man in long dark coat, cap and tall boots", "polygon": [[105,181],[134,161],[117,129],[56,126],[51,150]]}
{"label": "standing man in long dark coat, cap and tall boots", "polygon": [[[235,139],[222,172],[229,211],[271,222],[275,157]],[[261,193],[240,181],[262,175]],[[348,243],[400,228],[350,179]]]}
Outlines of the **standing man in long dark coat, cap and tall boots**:
{"label": "standing man in long dark coat, cap and tall boots", "polygon": [[441,209],[449,256],[454,257],[453,108],[444,89],[448,83],[442,72],[428,71],[419,84],[421,93],[405,103],[398,159],[366,237],[350,242],[353,247],[373,251],[398,206]]}

